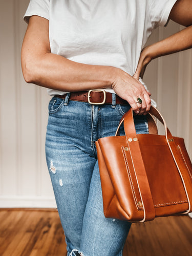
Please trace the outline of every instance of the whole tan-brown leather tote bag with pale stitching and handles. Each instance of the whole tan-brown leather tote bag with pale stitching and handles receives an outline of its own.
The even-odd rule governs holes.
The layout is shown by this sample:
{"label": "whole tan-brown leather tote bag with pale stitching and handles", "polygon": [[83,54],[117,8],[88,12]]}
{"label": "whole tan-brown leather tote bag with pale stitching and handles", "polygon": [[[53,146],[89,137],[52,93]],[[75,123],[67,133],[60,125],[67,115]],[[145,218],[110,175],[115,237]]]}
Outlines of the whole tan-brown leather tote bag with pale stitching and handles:
{"label": "whole tan-brown leather tote bag with pale stitching and handles", "polygon": [[[114,137],[96,142],[107,218],[144,222],[191,212],[192,165],[184,140],[172,136],[153,106],[150,114],[163,123],[165,136],[156,133],[152,117],[149,134],[136,134],[130,109]],[[125,136],[118,134],[122,123]]]}

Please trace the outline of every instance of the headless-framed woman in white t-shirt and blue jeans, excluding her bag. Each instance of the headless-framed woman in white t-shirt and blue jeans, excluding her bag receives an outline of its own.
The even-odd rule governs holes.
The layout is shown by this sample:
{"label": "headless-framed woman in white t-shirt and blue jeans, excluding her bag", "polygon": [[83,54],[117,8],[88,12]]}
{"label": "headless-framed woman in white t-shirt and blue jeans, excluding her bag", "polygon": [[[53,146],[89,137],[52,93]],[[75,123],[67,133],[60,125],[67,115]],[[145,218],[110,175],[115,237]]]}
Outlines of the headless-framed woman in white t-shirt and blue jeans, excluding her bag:
{"label": "headless-framed woman in white t-shirt and blue jeans, excluding her bag", "polygon": [[[130,108],[137,133],[148,132],[151,94],[139,76],[152,59],[191,48],[191,10],[191,0],[30,1],[22,69],[53,96],[46,157],[68,256],[122,255],[131,224],[103,216],[95,141]],[[144,48],[168,18],[187,28]]]}

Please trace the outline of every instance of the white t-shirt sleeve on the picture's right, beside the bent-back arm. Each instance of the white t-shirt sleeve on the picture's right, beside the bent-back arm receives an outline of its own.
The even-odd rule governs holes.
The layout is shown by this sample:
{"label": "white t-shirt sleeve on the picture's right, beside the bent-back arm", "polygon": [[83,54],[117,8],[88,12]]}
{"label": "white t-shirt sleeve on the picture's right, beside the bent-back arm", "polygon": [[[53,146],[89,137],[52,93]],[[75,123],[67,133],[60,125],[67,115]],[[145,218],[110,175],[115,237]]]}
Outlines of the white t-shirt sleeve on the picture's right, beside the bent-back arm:
{"label": "white t-shirt sleeve on the picture's right, beside the bent-back arm", "polygon": [[154,28],[165,26],[168,16],[177,0],[148,0],[150,18]]}

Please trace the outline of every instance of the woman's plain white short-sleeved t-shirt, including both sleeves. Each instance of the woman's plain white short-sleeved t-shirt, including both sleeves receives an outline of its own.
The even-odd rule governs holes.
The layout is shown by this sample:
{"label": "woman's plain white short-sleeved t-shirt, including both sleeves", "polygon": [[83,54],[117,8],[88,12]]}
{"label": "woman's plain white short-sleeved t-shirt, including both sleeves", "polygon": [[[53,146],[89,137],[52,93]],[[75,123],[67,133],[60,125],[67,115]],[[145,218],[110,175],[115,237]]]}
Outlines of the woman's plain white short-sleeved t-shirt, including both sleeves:
{"label": "woman's plain white short-sleeved t-shirt, including both sleeves", "polygon": [[147,38],[156,27],[167,23],[175,2],[31,0],[24,20],[28,22],[32,15],[49,19],[52,53],[80,63],[117,67],[134,75]]}

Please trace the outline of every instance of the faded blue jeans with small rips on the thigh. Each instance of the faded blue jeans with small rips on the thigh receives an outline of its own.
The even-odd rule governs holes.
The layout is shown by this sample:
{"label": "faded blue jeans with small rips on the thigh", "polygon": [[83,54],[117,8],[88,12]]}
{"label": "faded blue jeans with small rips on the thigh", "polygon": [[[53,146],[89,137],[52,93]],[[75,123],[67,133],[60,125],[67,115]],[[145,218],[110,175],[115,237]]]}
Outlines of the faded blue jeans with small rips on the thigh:
{"label": "faded blue jeans with small rips on the thigh", "polygon": [[[46,157],[68,256],[120,256],[131,223],[107,219],[95,141],[114,136],[130,105],[91,105],[53,97],[49,103]],[[147,133],[144,116],[135,117],[137,133]],[[123,127],[120,134],[124,134]]]}

